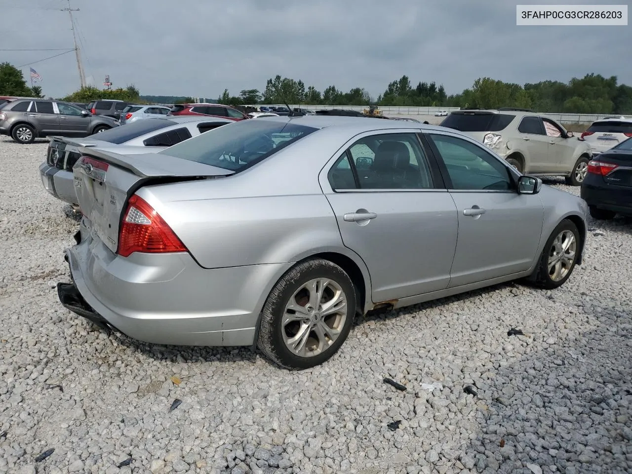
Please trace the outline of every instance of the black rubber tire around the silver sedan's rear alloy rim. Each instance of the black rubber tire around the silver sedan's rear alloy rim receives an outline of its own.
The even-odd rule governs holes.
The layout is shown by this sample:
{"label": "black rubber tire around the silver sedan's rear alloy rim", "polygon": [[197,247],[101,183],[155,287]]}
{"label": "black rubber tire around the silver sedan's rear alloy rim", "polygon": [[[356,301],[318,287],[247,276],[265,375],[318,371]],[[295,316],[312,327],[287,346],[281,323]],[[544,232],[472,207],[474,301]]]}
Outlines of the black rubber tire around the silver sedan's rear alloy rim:
{"label": "black rubber tire around the silver sedan's rear alloy rim", "polygon": [[[297,334],[298,329],[305,324],[305,319],[308,319],[309,317],[304,317],[305,319],[301,322],[296,320],[295,322],[288,323],[286,327],[283,327],[282,319],[286,305],[295,293],[297,291],[303,291],[301,288],[303,288],[303,286],[309,281],[319,278],[330,279],[339,286],[341,291],[344,293],[344,296],[346,297],[346,318],[342,321],[336,319],[339,323],[339,334],[329,347],[325,348],[317,355],[300,356],[293,353],[288,348],[284,341],[284,334],[288,337]],[[325,293],[329,293],[329,291],[329,287],[325,287]],[[301,293],[298,293],[297,297],[298,296],[301,296]],[[325,295],[325,297],[326,296],[327,295]],[[307,301],[305,301],[305,305],[301,305],[299,301],[296,301],[296,298],[295,302],[297,303],[297,306],[300,307],[306,307],[307,305]],[[257,346],[265,356],[281,367],[291,370],[303,370],[315,367],[316,365],[320,365],[331,358],[331,356],[333,356],[344,343],[345,339],[349,335],[349,331],[351,330],[351,325],[353,325],[355,311],[356,291],[348,274],[346,274],[346,272],[338,265],[329,262],[329,260],[305,260],[304,262],[296,264],[293,268],[289,269],[288,272],[286,272],[286,274],[284,274],[284,276],[277,282],[272,291],[270,291],[270,295],[265,301],[264,309],[261,312]],[[316,317],[319,316],[317,315]],[[332,317],[329,317],[329,320],[324,321],[323,324],[329,325],[331,319]],[[342,319],[342,317],[340,317],[340,319]],[[312,323],[313,320],[309,320],[308,324]],[[298,327],[296,327],[297,325]],[[296,329],[295,334],[292,334],[293,329]],[[318,337],[315,331],[310,329],[307,333],[307,342],[305,343],[305,346],[311,346],[312,343],[317,342],[312,336]]]}

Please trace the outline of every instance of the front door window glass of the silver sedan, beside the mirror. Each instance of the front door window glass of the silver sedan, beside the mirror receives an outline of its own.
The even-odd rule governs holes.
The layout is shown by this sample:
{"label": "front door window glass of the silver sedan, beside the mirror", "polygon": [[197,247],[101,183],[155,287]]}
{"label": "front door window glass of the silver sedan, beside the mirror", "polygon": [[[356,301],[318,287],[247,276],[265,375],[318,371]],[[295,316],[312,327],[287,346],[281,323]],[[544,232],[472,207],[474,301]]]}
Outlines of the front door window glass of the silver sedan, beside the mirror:
{"label": "front door window glass of the silver sedan, beside the mirror", "polygon": [[456,190],[513,190],[509,171],[494,155],[462,138],[429,133]]}

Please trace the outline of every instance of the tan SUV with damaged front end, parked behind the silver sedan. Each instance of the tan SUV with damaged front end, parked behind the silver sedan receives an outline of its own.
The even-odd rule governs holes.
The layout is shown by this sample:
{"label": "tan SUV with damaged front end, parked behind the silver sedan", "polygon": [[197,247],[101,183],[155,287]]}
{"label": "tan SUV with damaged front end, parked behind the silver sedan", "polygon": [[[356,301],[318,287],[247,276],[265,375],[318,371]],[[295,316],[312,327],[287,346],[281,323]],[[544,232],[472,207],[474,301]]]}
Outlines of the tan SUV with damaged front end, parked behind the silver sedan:
{"label": "tan SUV with damaged front end, parked behind the silver sedan", "polygon": [[441,126],[459,130],[532,176],[564,176],[579,186],[592,158],[590,146],[555,120],[525,109],[461,109]]}

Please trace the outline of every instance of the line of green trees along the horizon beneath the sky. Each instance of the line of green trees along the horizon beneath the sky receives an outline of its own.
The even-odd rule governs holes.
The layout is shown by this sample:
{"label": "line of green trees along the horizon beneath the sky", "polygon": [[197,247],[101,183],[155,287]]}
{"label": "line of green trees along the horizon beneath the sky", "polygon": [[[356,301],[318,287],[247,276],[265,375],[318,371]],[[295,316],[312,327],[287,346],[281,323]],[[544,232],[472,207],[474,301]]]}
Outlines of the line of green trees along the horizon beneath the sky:
{"label": "line of green trees along the horizon beneath the sky", "polygon": [[[0,95],[44,97],[41,87],[28,87],[22,72],[9,63],[0,63]],[[134,85],[112,90],[88,86],[61,100],[90,102],[96,99],[118,99],[142,104],[151,102],[147,100],[149,97],[153,96],[141,97]],[[174,100],[175,103],[193,102],[191,97],[177,99]],[[520,107],[538,112],[629,115],[632,114],[632,87],[618,84],[616,76],[606,78],[594,73],[586,74],[583,78],[572,78],[568,83],[547,80],[525,85],[483,77],[475,80],[471,87],[460,94],[447,95],[442,84],[437,85],[432,81],[418,82],[414,85],[410,78],[404,75],[389,83],[384,93],[374,99],[362,87],[354,87],[344,92],[335,85],[330,85],[321,92],[313,85],[306,86],[302,80],[276,75],[267,80],[263,92],[258,89],[245,89],[241,90],[239,95],[231,95],[228,89],[224,89],[217,101],[233,106],[288,102],[315,106],[377,105],[483,109]]]}

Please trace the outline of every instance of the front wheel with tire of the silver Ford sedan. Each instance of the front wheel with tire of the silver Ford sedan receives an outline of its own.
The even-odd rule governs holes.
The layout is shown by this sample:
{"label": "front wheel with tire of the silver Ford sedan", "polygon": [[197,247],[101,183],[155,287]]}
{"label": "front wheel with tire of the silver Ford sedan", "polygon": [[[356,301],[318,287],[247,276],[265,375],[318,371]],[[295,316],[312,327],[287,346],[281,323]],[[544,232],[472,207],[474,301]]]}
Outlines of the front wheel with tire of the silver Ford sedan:
{"label": "front wheel with tire of the silver Ford sedan", "polygon": [[577,226],[568,219],[560,222],[547,240],[530,280],[545,289],[562,286],[573,273],[580,248]]}

